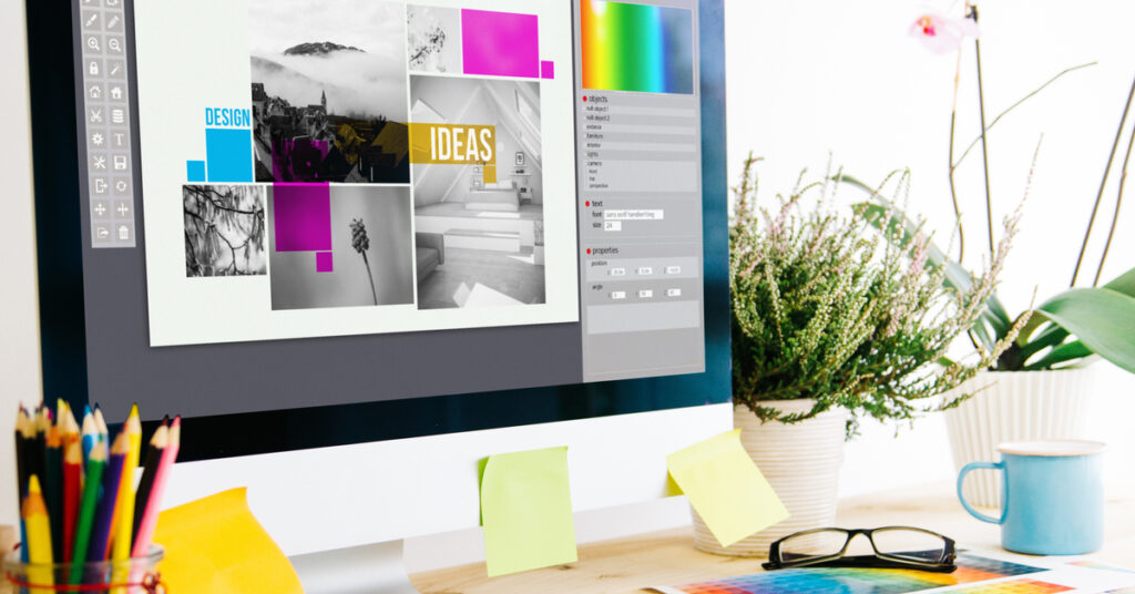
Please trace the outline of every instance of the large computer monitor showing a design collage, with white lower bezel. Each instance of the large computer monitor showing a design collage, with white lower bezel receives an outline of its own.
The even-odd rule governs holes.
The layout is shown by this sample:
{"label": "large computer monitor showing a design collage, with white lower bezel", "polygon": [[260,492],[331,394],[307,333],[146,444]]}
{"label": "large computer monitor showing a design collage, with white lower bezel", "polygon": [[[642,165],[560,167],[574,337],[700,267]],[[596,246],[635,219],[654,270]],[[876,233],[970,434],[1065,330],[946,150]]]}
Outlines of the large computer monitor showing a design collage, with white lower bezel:
{"label": "large computer monitor showing a design collage, with white lower bezel", "polygon": [[27,22],[44,392],[180,413],[167,504],[302,555],[476,526],[493,453],[661,497],[729,427],[721,0]]}

